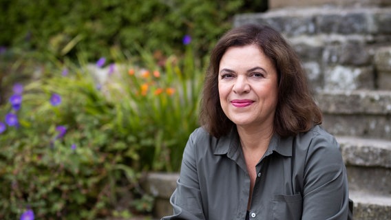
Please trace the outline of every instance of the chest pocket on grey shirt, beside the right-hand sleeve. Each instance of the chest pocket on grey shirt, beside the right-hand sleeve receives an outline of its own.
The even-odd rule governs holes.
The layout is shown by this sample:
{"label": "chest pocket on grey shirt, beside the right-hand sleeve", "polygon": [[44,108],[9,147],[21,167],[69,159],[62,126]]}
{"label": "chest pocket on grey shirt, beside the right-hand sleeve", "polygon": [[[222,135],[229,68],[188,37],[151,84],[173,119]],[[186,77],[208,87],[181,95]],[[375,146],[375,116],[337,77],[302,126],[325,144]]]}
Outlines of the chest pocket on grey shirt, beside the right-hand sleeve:
{"label": "chest pocket on grey shirt, beside the right-hand sleeve", "polygon": [[303,198],[300,194],[275,195],[271,201],[271,219],[301,219]]}

